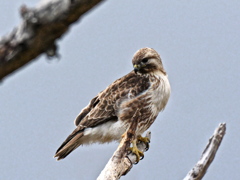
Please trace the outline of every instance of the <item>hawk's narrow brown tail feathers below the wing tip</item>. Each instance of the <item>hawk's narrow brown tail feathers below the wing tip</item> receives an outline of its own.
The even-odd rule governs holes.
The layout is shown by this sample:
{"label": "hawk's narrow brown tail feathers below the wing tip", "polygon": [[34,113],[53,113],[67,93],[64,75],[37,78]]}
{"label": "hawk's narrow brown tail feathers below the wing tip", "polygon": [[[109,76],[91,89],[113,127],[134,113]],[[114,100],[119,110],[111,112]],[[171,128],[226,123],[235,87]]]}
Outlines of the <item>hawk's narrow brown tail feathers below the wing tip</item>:
{"label": "hawk's narrow brown tail feathers below the wing tip", "polygon": [[63,159],[67,155],[69,155],[73,150],[75,150],[78,146],[80,146],[83,131],[84,128],[78,126],[58,148],[54,157],[56,157],[57,160]]}

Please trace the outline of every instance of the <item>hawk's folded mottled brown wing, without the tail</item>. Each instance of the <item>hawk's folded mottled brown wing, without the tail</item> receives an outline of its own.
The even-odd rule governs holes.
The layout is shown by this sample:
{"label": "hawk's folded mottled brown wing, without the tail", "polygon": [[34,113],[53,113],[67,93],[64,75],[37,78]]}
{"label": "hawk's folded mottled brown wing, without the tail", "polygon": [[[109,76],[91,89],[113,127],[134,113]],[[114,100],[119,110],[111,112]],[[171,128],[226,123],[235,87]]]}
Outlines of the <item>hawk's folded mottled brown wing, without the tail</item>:
{"label": "hawk's folded mottled brown wing, without the tail", "polygon": [[95,127],[109,120],[117,120],[120,103],[132,99],[150,86],[149,79],[134,71],[116,80],[93,98],[75,120],[75,125]]}

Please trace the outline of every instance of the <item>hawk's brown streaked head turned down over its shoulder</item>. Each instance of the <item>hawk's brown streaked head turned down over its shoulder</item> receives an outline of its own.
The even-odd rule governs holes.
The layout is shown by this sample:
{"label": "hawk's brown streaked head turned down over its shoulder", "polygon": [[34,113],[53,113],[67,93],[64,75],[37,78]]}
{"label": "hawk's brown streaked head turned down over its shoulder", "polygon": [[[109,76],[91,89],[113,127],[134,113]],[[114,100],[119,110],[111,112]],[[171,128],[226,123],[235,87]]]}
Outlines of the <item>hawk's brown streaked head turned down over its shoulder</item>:
{"label": "hawk's brown streaked head turned down over its shoulder", "polygon": [[160,71],[163,74],[166,74],[159,54],[152,48],[139,49],[134,54],[132,63],[135,73],[139,72],[146,74],[157,73]]}

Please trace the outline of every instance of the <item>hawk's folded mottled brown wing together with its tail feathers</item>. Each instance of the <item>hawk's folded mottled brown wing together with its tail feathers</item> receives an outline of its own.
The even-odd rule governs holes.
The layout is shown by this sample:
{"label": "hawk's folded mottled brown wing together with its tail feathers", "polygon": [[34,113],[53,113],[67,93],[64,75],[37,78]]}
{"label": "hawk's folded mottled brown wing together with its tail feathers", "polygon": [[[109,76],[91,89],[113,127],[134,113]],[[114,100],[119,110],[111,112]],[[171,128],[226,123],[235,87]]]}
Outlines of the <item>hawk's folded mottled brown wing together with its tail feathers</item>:
{"label": "hawk's folded mottled brown wing together with its tail feathers", "polygon": [[149,86],[147,77],[137,75],[133,71],[113,82],[81,111],[75,120],[77,128],[58,148],[55,157],[58,160],[63,159],[81,145],[80,139],[85,128],[95,127],[110,120],[118,120],[117,113],[121,110],[122,102],[138,96]]}

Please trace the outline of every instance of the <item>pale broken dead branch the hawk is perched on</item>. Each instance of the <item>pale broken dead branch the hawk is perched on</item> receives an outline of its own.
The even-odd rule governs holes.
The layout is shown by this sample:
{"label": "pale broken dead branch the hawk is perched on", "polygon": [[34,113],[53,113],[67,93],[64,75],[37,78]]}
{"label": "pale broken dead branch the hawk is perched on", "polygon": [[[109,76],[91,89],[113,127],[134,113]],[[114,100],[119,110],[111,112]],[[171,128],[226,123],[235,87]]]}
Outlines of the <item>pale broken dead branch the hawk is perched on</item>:
{"label": "pale broken dead branch the hawk is perched on", "polygon": [[[135,113],[136,116],[137,112]],[[128,154],[128,149],[130,147],[131,141],[135,138],[134,134],[136,131],[138,120],[136,117],[132,118],[132,124],[130,125],[128,131],[123,135],[123,138],[114,152],[113,156],[109,159],[105,168],[102,170],[101,174],[98,176],[97,180],[117,180],[121,176],[126,175],[132,168],[133,164],[136,162],[136,155],[133,153]],[[151,138],[151,132],[147,132],[146,137]],[[137,147],[140,151],[147,151],[146,144],[139,142]]]}

